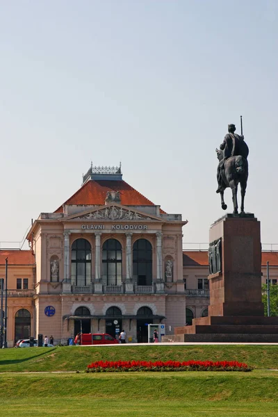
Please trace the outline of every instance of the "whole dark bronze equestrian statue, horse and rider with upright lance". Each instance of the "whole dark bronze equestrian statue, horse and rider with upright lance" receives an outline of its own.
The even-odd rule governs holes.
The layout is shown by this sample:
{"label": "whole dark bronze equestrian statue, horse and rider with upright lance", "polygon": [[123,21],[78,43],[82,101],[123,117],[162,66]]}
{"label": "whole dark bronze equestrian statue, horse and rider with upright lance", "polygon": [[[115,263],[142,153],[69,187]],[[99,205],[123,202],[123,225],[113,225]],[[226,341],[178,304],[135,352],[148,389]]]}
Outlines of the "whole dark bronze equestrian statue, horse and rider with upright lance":
{"label": "whole dark bronze equestrian statue, horse and rider with upright lance", "polygon": [[234,214],[238,214],[238,184],[240,183],[241,190],[241,204],[240,214],[244,214],[244,197],[248,178],[248,161],[247,157],[249,149],[243,136],[242,117],[241,135],[235,133],[236,126],[228,124],[228,133],[224,137],[220,149],[215,149],[219,164],[217,170],[218,189],[216,193],[220,193],[221,206],[223,210],[227,209],[227,204],[224,203],[224,190],[231,188],[234,203]]}

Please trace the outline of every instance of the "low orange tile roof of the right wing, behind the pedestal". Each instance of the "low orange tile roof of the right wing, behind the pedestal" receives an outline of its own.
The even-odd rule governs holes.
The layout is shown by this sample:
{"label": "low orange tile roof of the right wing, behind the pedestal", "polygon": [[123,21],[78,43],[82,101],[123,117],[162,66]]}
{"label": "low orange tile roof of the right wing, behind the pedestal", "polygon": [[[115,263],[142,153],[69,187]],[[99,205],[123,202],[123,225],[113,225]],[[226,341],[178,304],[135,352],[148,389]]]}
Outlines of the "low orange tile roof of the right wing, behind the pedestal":
{"label": "low orange tile roof of the right wing, behind the pedestal", "polygon": [[[261,252],[261,265],[265,266],[267,261],[272,266],[278,266],[278,252]],[[205,250],[183,250],[183,266],[197,265],[208,266],[208,252],[206,252]]]}

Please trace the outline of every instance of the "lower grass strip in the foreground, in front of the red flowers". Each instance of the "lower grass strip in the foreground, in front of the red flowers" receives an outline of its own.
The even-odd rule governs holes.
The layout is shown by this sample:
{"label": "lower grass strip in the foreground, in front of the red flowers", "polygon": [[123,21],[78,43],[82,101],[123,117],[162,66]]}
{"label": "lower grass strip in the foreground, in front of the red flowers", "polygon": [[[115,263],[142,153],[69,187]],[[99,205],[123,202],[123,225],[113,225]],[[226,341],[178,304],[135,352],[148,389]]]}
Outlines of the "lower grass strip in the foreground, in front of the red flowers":
{"label": "lower grass strip in the foreground, in front of the red flowers", "polygon": [[253,373],[6,373],[1,415],[277,416],[278,375]]}

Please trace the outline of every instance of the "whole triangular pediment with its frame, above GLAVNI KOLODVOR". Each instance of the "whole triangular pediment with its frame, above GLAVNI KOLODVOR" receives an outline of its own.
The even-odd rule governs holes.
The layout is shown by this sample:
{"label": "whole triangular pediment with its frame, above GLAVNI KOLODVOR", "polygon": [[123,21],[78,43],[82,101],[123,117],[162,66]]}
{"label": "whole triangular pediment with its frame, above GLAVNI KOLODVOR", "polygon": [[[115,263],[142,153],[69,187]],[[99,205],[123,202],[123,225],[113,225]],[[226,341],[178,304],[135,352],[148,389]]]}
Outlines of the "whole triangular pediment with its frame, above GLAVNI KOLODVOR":
{"label": "whole triangular pediment with its frame, above GLAVNI KOLODVOR", "polygon": [[142,211],[134,210],[133,208],[126,208],[126,206],[121,206],[120,204],[107,204],[105,206],[100,206],[92,210],[82,211],[81,213],[75,213],[67,216],[66,218],[61,219],[61,221],[67,220],[90,220],[90,221],[140,221],[140,220],[152,220],[162,222],[161,218],[158,218],[154,215],[148,215],[147,213],[142,213]]}

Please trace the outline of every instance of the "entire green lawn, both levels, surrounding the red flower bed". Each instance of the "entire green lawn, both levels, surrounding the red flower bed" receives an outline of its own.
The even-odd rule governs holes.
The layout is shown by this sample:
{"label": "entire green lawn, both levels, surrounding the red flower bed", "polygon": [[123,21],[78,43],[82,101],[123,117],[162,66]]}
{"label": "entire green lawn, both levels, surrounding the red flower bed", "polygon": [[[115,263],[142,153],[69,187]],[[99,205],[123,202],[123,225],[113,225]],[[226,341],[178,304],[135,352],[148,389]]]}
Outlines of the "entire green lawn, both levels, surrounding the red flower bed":
{"label": "entire green lawn, both levels, surrounding the red flower bed", "polygon": [[[256,369],[251,373],[63,373],[83,371],[99,359],[235,359]],[[276,417],[278,372],[270,368],[278,368],[276,346],[0,350],[1,416]]]}

